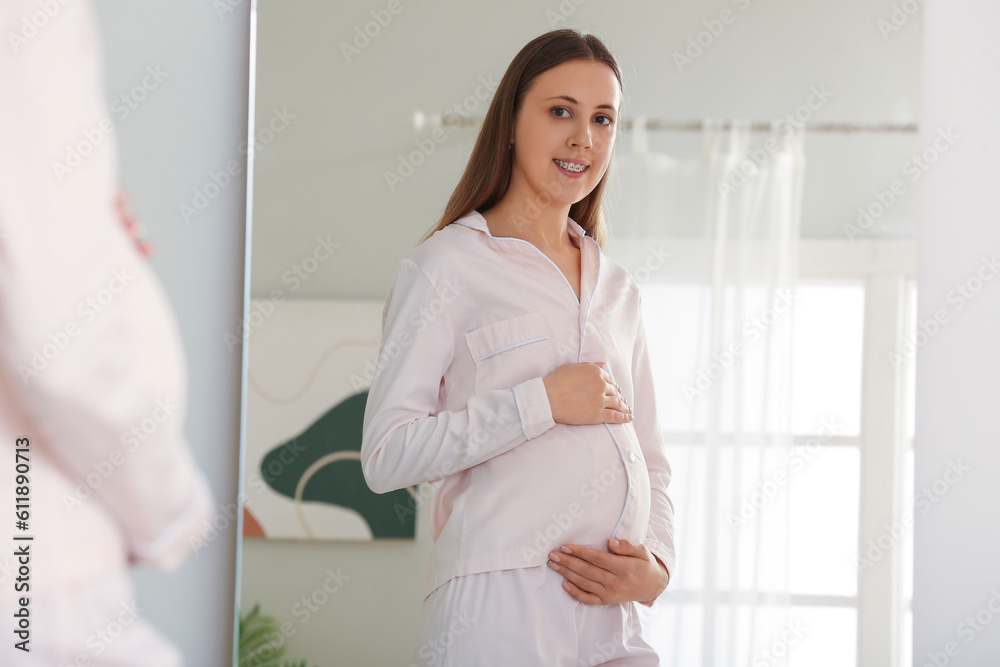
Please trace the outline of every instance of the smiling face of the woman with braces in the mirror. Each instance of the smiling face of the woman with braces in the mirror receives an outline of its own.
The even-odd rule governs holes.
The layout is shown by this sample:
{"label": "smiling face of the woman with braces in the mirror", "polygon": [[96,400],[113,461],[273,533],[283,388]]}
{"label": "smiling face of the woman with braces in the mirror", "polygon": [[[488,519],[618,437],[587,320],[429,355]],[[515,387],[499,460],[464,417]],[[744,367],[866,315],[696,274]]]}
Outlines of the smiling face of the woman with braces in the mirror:
{"label": "smiling face of the woman with braces in the mirror", "polygon": [[[569,60],[539,74],[515,121],[512,180],[556,205],[586,197],[611,160],[620,102],[618,79],[604,63]],[[573,172],[565,163],[586,168]]]}

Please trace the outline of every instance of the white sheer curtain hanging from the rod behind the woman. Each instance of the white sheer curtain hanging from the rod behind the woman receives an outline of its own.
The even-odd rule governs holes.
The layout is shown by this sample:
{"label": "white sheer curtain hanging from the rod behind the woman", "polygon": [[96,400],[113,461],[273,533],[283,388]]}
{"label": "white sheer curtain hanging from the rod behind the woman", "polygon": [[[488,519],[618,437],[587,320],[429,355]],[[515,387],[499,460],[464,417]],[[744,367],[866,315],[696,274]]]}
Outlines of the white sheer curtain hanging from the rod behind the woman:
{"label": "white sheer curtain hanging from the rod behind the woman", "polygon": [[[608,206],[608,254],[643,286],[673,466],[677,571],[646,634],[678,667],[787,664],[797,641],[786,483],[804,132],[731,125],[708,120],[700,155],[667,157],[638,119]],[[672,329],[690,334],[655,335]]]}

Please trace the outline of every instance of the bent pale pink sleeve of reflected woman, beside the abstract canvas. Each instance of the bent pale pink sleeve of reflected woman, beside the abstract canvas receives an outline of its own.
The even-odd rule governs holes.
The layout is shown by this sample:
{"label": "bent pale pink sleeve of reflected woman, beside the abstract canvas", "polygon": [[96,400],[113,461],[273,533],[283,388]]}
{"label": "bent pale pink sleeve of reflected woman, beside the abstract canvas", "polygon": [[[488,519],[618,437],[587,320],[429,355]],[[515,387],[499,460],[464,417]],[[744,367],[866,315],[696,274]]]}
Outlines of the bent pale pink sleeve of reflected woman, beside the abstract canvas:
{"label": "bent pale pink sleeve of reflected woman, beside the abstract canvas", "polygon": [[409,259],[383,306],[382,343],[368,390],[361,465],[386,493],[445,477],[507,452],[555,425],[541,377],[485,391],[462,410],[438,412],[455,354],[450,302]]}

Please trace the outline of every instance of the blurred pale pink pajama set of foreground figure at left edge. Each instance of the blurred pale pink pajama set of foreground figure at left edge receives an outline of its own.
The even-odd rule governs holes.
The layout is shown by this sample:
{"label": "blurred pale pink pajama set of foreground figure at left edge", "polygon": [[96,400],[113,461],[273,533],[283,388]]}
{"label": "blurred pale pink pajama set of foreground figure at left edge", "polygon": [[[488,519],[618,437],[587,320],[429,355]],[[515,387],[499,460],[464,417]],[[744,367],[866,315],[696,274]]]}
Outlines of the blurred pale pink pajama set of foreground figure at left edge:
{"label": "blurred pale pink pajama set of foreground figure at left edge", "polygon": [[[49,4],[51,17],[36,0],[0,4],[0,499],[13,513],[27,492],[17,536],[33,538],[15,542],[10,517],[0,665],[178,667],[136,604],[130,560],[176,570],[216,503],[184,435],[176,318],[116,209],[94,8]],[[30,652],[14,646],[23,609]]]}

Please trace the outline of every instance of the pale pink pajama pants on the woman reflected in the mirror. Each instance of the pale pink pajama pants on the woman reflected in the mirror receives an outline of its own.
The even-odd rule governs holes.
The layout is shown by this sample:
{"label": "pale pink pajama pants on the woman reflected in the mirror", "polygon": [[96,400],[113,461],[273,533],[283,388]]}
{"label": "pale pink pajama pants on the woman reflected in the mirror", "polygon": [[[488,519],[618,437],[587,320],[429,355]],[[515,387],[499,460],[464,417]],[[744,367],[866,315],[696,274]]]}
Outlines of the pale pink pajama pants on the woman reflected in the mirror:
{"label": "pale pink pajama pants on the woman reflected in the mirror", "polygon": [[583,604],[563,581],[548,565],[450,579],[424,600],[412,665],[660,664],[642,639],[638,603]]}

